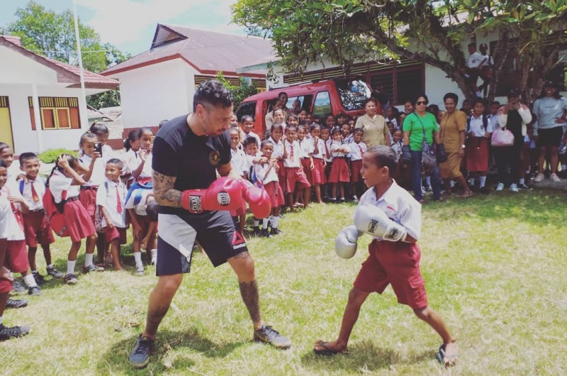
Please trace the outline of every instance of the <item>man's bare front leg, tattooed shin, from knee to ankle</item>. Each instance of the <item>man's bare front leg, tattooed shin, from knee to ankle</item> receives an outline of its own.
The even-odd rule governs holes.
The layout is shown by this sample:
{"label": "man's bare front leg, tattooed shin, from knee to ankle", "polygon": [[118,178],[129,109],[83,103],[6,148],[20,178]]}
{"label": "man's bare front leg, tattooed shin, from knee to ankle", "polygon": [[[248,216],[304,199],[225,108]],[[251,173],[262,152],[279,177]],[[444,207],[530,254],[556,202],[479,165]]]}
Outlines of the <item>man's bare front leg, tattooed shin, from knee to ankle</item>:
{"label": "man's bare front leg, tattooed shin, from knee to ankle", "polygon": [[262,321],[262,314],[260,314],[260,299],[254,273],[254,260],[252,260],[249,253],[242,252],[228,259],[228,263],[235,270],[238,277],[242,302],[248,309],[254,329],[262,328],[264,321]]}

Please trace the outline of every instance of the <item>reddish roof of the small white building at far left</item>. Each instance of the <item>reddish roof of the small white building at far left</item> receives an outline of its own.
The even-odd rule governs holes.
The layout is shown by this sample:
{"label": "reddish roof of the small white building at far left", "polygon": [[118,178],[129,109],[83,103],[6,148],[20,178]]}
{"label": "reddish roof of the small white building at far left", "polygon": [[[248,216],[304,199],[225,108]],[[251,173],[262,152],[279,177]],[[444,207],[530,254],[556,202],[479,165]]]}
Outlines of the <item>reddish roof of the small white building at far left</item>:
{"label": "reddish roof of the small white building at far left", "polygon": [[[12,50],[15,50],[26,57],[50,67],[52,70],[57,71],[58,79],[64,79],[62,82],[71,83],[69,87],[80,87],[81,83],[81,73],[79,67],[74,65],[69,65],[64,62],[60,62],[50,57],[45,57],[43,55],[38,55],[30,50],[26,50],[20,44],[20,38],[9,35],[0,35],[0,45],[4,45]],[[85,87],[89,89],[116,89],[118,87],[118,81],[116,79],[111,79],[104,77],[101,74],[96,74],[89,72],[88,70],[83,70],[84,84]],[[64,77],[64,78],[63,78]]]}

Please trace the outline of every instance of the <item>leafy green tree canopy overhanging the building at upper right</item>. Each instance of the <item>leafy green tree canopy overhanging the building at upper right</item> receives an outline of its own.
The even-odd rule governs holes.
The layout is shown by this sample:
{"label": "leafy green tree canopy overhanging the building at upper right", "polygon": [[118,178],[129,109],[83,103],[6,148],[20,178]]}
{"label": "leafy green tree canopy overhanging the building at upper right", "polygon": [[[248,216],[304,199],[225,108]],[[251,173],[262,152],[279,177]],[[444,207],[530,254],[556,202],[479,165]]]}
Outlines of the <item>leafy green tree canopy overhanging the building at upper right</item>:
{"label": "leafy green tree canopy overhanging the building at upper right", "polygon": [[[468,41],[500,31],[495,64],[521,52],[518,82],[527,89],[529,74],[541,83],[553,67],[561,33],[552,31],[567,24],[567,2],[238,0],[232,21],[269,35],[288,72],[331,60],[349,73],[357,60],[403,57],[438,67],[474,96],[464,79]],[[515,38],[516,50],[508,43]]]}

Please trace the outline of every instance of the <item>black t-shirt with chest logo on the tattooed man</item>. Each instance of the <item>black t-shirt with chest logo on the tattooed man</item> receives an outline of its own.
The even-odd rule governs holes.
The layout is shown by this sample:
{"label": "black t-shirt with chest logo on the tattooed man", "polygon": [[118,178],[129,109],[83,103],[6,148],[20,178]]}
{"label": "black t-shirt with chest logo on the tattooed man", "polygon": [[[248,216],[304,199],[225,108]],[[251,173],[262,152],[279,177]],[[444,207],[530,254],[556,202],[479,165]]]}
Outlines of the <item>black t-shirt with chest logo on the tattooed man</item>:
{"label": "black t-shirt with chest logo on the tattooed man", "polygon": [[[174,189],[205,189],[216,179],[216,168],[230,162],[230,136],[196,136],[187,125],[187,116],[179,116],[157,132],[152,150],[152,169],[177,177]],[[160,213],[177,214],[162,206]]]}

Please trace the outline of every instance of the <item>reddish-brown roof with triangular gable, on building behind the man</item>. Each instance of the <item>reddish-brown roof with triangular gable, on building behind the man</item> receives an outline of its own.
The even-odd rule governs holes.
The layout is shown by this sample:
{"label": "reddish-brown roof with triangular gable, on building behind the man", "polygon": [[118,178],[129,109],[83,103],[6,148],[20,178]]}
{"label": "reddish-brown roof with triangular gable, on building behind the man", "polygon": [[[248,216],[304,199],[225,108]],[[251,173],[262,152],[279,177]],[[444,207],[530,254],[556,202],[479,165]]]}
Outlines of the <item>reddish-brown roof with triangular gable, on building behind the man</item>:
{"label": "reddish-brown roof with triangular gable, on building behind the man", "polygon": [[[137,67],[181,58],[201,74],[236,75],[238,67],[272,55],[271,40],[158,24],[150,50],[101,72],[108,76]],[[245,74],[264,77],[264,72]]]}

